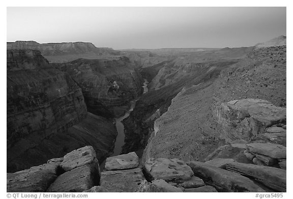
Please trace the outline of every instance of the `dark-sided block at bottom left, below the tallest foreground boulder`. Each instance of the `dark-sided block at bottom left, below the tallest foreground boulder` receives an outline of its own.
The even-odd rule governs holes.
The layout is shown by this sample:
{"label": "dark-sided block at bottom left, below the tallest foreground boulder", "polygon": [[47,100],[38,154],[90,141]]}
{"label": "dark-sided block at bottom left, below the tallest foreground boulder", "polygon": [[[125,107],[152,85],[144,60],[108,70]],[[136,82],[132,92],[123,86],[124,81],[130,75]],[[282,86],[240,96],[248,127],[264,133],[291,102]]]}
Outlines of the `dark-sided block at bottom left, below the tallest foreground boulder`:
{"label": "dark-sided block at bottom left, below the tallest foreground boulder", "polygon": [[82,192],[99,184],[100,169],[96,159],[57,177],[47,192]]}

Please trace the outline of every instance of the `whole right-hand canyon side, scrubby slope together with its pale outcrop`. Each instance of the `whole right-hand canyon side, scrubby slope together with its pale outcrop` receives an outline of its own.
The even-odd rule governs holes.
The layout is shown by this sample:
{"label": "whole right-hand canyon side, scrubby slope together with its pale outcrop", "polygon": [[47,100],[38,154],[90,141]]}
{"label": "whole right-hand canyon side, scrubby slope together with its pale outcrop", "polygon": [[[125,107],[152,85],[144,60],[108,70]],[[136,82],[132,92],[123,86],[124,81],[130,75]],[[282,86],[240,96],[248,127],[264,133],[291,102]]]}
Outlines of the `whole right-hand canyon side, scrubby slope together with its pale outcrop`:
{"label": "whole right-hand canyon side, scrubby slope together with its pale outcrop", "polygon": [[172,99],[154,122],[144,160],[204,161],[221,145],[250,142],[268,127],[286,124],[286,46],[255,49],[218,75]]}

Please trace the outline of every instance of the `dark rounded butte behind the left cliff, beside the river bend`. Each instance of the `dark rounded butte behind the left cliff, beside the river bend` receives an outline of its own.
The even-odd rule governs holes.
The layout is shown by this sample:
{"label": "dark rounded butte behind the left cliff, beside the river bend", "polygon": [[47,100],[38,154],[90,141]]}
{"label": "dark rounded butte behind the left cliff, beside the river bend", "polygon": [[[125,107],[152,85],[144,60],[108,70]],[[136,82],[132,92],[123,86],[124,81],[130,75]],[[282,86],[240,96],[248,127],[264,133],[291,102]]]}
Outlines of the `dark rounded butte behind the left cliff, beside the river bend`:
{"label": "dark rounded butte behind the left cliff, beside the river bend", "polygon": [[127,57],[77,59],[55,66],[70,74],[81,87],[89,112],[114,117],[115,108],[142,93],[143,80]]}

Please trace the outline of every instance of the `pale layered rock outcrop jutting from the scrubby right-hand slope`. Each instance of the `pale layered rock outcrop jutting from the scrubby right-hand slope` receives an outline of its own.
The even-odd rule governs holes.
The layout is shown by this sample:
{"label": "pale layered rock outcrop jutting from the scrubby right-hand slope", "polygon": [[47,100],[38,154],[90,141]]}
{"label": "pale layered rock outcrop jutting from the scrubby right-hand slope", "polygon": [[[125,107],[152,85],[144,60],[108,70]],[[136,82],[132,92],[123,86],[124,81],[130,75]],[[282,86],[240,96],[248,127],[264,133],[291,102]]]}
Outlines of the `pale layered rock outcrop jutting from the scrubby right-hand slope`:
{"label": "pale layered rock outcrop jutting from the scrubby right-hand slope", "polygon": [[222,135],[226,140],[249,140],[273,124],[286,122],[285,108],[251,98],[223,103],[215,115],[226,132]]}

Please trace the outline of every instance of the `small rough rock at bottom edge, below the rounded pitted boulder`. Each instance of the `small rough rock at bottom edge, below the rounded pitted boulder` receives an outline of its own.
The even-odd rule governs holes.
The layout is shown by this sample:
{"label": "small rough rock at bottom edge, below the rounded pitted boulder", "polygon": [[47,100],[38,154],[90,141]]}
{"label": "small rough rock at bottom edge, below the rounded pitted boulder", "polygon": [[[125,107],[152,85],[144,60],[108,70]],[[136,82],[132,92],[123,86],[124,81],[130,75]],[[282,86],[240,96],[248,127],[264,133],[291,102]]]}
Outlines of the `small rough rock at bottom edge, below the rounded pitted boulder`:
{"label": "small rough rock at bottom edge, below the rounded pitted boulder", "polygon": [[136,192],[183,192],[181,188],[172,186],[166,181],[159,179],[153,180],[152,183],[143,181]]}

